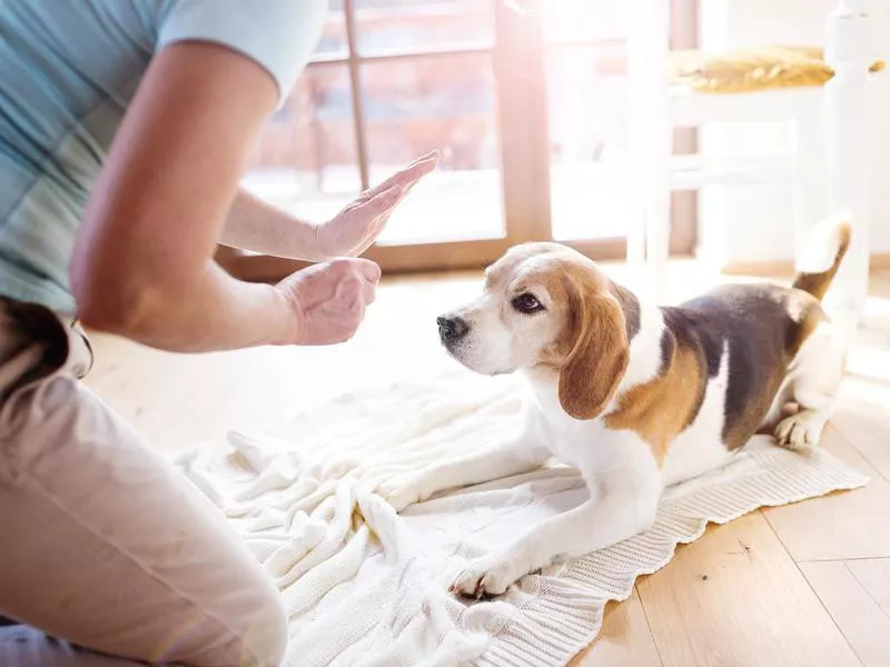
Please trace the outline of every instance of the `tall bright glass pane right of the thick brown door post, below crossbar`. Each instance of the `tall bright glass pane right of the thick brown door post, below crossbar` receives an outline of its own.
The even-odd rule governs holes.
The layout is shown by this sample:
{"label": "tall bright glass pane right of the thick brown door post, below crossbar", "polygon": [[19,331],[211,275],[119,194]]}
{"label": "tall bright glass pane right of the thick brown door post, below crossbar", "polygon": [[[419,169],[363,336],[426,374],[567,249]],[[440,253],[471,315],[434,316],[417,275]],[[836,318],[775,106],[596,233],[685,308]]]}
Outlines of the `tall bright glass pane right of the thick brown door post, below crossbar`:
{"label": "tall bright glass pane right of the thick brown door post, below crossbar", "polygon": [[623,51],[547,53],[553,236],[626,236],[636,200],[629,176],[629,91]]}

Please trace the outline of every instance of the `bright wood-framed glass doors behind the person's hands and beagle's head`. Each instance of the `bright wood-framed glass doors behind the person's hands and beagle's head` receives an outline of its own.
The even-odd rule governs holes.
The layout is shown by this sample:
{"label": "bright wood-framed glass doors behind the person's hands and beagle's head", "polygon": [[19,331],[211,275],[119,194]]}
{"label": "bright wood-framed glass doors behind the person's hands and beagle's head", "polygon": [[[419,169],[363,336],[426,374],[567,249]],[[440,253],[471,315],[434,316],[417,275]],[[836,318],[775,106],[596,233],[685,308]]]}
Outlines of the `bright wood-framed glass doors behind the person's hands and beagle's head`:
{"label": "bright wood-framed glass doors behind the person's hands and beagle's head", "polygon": [[330,7],[316,59],[263,132],[246,187],[324,219],[437,148],[441,169],[368,252],[385,269],[476,267],[526,240],[622,256],[634,195],[619,0]]}

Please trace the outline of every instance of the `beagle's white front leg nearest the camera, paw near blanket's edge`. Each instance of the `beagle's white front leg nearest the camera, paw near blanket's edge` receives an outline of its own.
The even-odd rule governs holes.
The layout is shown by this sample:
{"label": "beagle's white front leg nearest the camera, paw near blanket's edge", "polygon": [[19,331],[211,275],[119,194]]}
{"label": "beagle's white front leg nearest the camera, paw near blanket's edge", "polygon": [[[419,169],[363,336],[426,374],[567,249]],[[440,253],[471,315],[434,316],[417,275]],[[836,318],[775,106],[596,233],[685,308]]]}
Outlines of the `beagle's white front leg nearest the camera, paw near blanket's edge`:
{"label": "beagle's white front leg nearest the camera, paw near blanket's edge", "polygon": [[657,479],[630,476],[591,486],[591,499],[523,534],[505,549],[471,560],[451,584],[471,597],[501,595],[516,580],[551,565],[633,537],[652,526],[661,497]]}

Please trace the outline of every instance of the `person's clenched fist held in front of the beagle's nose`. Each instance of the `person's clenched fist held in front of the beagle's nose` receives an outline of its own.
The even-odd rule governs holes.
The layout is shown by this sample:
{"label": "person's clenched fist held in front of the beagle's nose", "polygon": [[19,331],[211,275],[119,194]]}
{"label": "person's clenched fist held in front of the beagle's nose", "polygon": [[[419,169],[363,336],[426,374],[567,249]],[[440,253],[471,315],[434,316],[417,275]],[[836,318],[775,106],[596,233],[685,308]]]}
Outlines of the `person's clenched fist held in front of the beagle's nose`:
{"label": "person's clenched fist held in front of the beagle's nose", "polygon": [[276,286],[295,315],[287,345],[349,340],[374,302],[380,268],[367,259],[334,259],[285,278]]}

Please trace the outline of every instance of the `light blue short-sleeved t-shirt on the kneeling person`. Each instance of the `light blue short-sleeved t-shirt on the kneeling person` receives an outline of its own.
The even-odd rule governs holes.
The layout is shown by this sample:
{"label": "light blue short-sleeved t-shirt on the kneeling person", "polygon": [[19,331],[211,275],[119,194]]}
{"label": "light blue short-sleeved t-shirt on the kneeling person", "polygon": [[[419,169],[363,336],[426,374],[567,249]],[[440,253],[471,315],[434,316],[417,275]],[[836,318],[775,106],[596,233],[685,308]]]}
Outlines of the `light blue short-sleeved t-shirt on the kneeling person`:
{"label": "light blue short-sleeved t-shirt on the kneeling person", "polygon": [[152,56],[182,40],[256,60],[283,102],[328,0],[0,0],[0,295],[75,312],[83,207]]}

